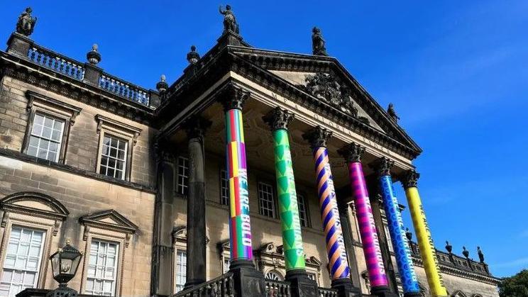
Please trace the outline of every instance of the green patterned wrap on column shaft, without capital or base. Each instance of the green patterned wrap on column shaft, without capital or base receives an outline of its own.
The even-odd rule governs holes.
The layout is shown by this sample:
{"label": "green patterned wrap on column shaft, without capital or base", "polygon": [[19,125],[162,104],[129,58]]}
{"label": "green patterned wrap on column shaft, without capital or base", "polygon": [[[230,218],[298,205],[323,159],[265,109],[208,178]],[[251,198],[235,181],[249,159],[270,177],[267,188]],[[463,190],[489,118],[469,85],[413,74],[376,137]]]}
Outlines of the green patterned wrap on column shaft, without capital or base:
{"label": "green patterned wrap on column shaft, without capital or base", "polygon": [[293,178],[292,155],[287,130],[273,131],[275,145],[275,172],[279,212],[282,223],[282,242],[286,259],[286,270],[304,269],[301,223]]}

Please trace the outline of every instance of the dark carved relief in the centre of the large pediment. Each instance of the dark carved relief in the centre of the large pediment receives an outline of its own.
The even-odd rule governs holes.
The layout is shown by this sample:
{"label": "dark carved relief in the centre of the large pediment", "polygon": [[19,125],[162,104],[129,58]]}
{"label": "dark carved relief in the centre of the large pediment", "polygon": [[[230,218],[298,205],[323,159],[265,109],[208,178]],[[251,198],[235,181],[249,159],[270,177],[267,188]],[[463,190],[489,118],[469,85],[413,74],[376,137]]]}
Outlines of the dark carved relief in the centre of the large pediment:
{"label": "dark carved relief in the centre of the large pediment", "polygon": [[334,75],[317,73],[308,75],[305,81],[307,83],[305,89],[312,96],[351,116],[358,116],[358,109],[353,105],[350,91],[342,87]]}

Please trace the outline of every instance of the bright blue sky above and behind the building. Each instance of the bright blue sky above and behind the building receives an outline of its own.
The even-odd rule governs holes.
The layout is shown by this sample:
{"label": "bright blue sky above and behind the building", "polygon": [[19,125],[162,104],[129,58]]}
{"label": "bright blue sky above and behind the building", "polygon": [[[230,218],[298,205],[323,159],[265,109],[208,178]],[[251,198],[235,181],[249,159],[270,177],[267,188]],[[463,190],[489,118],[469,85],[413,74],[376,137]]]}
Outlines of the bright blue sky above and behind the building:
{"label": "bright blue sky above and behind the building", "polygon": [[[319,26],[329,53],[382,106],[395,104],[424,149],[415,164],[437,247],[450,240],[478,259],[480,245],[496,276],[528,267],[528,1],[329,3],[230,4],[255,47],[309,53]],[[4,1],[0,40],[31,5],[37,43],[81,61],[99,43],[107,72],[154,88],[162,73],[180,76],[190,45],[216,43],[219,4]]]}

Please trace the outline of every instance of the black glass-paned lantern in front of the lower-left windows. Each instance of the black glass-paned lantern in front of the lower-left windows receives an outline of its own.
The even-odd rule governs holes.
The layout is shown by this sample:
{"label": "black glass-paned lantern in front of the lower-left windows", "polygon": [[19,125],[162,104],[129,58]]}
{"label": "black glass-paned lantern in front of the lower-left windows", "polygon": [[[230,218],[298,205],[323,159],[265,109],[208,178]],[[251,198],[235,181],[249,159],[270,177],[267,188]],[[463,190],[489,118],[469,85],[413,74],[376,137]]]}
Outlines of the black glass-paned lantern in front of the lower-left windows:
{"label": "black glass-paned lantern in front of the lower-left windows", "polygon": [[81,257],[81,252],[70,245],[70,240],[66,241],[65,247],[50,256],[53,279],[59,283],[59,287],[46,294],[46,297],[77,296],[77,291],[68,288],[67,283],[77,273]]}

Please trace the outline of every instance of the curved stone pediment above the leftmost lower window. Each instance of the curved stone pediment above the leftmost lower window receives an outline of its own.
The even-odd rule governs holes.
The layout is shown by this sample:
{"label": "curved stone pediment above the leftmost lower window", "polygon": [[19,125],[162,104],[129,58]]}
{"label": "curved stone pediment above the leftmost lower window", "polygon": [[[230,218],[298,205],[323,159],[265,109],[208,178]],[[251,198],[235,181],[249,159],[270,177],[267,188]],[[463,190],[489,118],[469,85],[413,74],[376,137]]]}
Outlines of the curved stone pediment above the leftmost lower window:
{"label": "curved stone pediment above the leftmost lower window", "polygon": [[53,235],[57,234],[60,222],[66,220],[70,212],[55,198],[38,192],[20,192],[0,199],[0,210],[4,211],[1,227],[6,227],[12,213],[29,217],[55,220]]}

